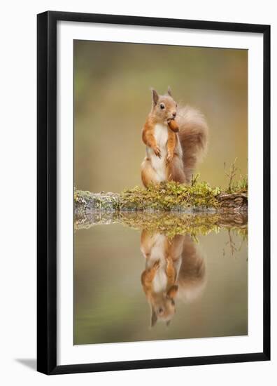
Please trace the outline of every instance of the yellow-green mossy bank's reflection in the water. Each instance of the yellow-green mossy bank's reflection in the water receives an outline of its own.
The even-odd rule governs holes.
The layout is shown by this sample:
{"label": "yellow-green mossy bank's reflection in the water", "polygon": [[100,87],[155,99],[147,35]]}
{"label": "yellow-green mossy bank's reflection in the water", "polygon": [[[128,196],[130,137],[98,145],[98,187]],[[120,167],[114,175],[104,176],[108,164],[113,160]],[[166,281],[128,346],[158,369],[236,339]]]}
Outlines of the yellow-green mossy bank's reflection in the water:
{"label": "yellow-green mossy bank's reflection in the water", "polygon": [[86,216],[76,216],[75,229],[88,228],[93,225],[118,223],[134,229],[147,229],[148,232],[174,237],[176,234],[208,234],[222,229],[234,229],[240,237],[247,237],[247,216],[236,213],[226,215],[187,214],[169,212],[102,212],[95,211]]}

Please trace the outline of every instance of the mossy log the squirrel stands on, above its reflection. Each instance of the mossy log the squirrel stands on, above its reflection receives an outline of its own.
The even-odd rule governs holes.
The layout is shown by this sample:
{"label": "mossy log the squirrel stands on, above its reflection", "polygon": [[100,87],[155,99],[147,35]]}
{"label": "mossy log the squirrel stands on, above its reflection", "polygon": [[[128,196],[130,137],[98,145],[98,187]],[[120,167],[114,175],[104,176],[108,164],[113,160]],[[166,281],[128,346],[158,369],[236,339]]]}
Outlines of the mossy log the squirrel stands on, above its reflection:
{"label": "mossy log the squirrel stands on, above its reflection", "polygon": [[115,212],[182,212],[182,213],[247,213],[247,192],[221,192],[201,183],[185,186],[169,182],[159,187],[135,187],[125,192],[74,192],[74,213]]}

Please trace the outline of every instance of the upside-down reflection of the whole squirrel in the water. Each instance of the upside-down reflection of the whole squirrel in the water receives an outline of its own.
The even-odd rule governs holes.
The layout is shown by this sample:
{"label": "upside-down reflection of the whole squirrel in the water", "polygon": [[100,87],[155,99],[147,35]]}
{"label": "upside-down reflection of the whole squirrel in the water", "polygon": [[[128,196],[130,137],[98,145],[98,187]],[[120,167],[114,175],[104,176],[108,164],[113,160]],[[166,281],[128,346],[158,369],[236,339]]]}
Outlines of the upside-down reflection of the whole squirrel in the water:
{"label": "upside-down reflection of the whole squirrel in the water", "polygon": [[176,312],[176,298],[190,302],[206,284],[205,261],[189,235],[141,233],[145,271],[141,284],[151,307],[151,326],[164,321],[168,326]]}

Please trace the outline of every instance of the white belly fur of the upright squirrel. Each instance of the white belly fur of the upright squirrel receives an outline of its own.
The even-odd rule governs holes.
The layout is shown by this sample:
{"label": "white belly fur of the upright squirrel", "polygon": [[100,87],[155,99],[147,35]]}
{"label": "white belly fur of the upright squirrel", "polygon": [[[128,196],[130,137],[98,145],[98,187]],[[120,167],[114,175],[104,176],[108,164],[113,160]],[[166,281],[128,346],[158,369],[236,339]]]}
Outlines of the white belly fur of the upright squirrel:
{"label": "white belly fur of the upright squirrel", "polygon": [[166,157],[167,157],[167,140],[169,133],[166,125],[156,124],[154,129],[154,136],[161,150],[161,158],[157,157],[153,149],[148,147],[148,157],[151,159],[152,168],[155,169],[157,173],[157,180],[164,181],[166,180]]}

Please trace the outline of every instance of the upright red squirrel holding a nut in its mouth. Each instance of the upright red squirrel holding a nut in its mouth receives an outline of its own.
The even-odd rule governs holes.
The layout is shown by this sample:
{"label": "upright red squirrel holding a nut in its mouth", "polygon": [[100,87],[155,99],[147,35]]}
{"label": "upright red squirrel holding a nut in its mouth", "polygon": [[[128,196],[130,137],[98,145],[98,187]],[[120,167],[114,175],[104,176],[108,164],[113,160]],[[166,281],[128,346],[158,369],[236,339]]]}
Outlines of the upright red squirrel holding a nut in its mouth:
{"label": "upright red squirrel holding a nut in its mouth", "polygon": [[167,95],[152,90],[152,109],[143,126],[146,157],[141,164],[143,185],[162,181],[189,183],[208,144],[203,115],[189,106],[178,107],[170,88]]}

